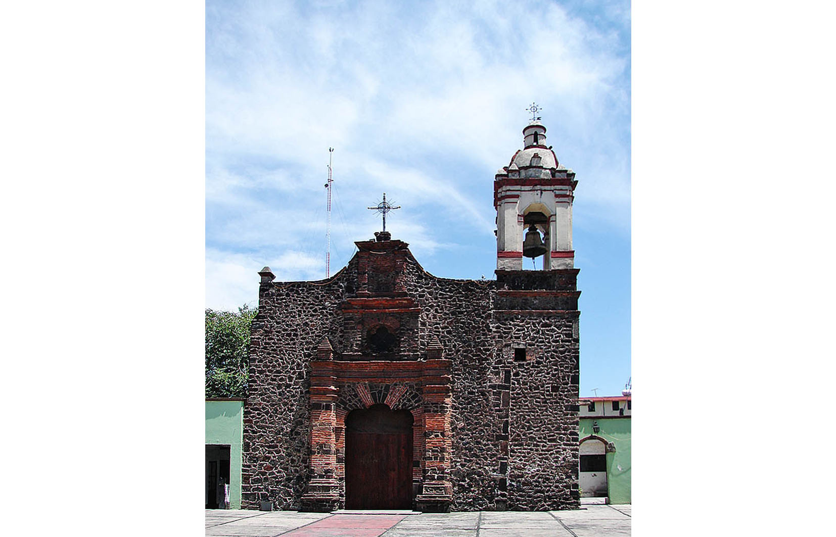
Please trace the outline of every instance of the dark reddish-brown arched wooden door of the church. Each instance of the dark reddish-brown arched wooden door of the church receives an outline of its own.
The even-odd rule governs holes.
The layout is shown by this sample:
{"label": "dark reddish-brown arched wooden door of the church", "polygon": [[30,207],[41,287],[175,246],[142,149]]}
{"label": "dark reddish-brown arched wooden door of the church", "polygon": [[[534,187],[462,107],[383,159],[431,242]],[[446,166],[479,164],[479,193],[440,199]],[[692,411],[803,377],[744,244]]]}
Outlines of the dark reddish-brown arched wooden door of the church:
{"label": "dark reddish-brown arched wooden door of the church", "polygon": [[385,404],[345,418],[345,509],[412,507],[412,413]]}

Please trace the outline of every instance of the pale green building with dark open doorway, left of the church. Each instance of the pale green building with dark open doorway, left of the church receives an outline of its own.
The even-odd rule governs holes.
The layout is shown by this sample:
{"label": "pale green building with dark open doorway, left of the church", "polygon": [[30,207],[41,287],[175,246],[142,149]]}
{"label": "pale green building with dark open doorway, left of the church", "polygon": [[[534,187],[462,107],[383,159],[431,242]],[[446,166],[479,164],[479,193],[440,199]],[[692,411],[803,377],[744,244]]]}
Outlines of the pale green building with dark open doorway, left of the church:
{"label": "pale green building with dark open doorway, left of the church", "polygon": [[206,509],[241,509],[244,399],[206,399]]}

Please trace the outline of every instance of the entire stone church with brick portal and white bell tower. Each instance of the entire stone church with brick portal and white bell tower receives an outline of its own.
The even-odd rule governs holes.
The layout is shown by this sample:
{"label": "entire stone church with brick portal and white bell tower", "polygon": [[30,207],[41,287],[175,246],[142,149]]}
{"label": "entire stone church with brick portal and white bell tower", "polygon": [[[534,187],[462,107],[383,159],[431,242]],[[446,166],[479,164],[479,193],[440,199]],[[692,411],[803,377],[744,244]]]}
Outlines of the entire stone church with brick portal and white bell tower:
{"label": "entire stone church with brick portal and white bell tower", "polygon": [[577,181],[545,131],[494,180],[496,280],[433,276],[385,231],[326,280],[259,272],[242,508],[578,507]]}

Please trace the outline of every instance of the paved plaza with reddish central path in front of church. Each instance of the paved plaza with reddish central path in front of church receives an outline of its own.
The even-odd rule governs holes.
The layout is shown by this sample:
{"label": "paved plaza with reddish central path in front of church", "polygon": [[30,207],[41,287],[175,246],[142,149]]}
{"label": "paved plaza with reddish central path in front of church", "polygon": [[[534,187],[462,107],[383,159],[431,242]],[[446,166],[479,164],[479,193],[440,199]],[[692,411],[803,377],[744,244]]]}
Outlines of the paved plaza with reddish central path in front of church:
{"label": "paved plaza with reddish central path in front of church", "polygon": [[630,505],[574,511],[385,514],[206,510],[206,535],[257,537],[608,537],[630,535]]}

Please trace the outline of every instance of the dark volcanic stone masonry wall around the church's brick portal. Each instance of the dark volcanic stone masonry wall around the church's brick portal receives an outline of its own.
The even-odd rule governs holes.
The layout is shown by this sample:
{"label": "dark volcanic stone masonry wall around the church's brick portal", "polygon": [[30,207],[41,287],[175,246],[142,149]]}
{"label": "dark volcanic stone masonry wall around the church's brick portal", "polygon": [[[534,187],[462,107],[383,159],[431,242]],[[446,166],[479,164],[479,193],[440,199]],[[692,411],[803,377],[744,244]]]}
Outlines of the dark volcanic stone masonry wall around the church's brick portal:
{"label": "dark volcanic stone masonry wall around the church's brick portal", "polygon": [[[431,276],[411,254],[391,274],[382,263],[368,271],[371,290],[396,285],[421,308],[417,337],[400,347],[426,353],[437,337],[451,360],[451,509],[578,507],[578,271],[497,271],[497,281],[472,281]],[[355,348],[358,336],[340,308],[358,288],[358,256],[329,281],[262,284],[243,417],[242,508],[266,500],[276,509],[302,506],[311,478],[309,364],[326,337],[337,354]],[[413,322],[405,324],[414,334]]]}

